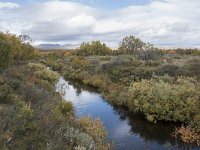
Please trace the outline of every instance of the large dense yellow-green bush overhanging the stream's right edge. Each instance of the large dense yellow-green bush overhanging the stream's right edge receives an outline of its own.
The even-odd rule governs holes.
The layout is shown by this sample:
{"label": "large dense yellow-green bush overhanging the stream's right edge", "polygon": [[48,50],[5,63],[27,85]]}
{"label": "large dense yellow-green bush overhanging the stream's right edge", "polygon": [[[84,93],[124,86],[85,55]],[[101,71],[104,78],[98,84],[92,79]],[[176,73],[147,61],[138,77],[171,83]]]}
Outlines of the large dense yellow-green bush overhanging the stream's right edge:
{"label": "large dense yellow-green bush overhanging the stream's right edge", "polygon": [[178,78],[174,83],[142,80],[130,86],[129,94],[128,107],[143,112],[150,121],[189,122],[200,108],[200,93],[191,78]]}

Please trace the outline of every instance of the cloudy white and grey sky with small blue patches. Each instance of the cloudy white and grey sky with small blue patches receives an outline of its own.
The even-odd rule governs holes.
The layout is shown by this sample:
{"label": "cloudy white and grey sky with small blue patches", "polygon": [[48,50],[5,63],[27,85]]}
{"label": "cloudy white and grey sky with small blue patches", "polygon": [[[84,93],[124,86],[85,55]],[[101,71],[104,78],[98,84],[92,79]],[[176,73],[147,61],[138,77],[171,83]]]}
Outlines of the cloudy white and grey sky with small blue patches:
{"label": "cloudy white and grey sky with small blue patches", "polygon": [[200,0],[0,0],[0,31],[30,35],[35,44],[126,35],[166,47],[200,47]]}

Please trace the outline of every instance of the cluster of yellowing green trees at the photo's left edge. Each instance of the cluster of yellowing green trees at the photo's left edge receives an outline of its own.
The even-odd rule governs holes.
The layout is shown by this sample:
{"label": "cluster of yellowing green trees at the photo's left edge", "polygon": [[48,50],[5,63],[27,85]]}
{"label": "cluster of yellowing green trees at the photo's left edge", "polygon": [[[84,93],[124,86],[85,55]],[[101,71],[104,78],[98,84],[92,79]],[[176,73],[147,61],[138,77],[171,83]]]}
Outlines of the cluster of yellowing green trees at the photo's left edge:
{"label": "cluster of yellowing green trees at the photo's left edge", "polygon": [[38,50],[30,44],[30,41],[29,36],[0,32],[0,69],[38,55]]}

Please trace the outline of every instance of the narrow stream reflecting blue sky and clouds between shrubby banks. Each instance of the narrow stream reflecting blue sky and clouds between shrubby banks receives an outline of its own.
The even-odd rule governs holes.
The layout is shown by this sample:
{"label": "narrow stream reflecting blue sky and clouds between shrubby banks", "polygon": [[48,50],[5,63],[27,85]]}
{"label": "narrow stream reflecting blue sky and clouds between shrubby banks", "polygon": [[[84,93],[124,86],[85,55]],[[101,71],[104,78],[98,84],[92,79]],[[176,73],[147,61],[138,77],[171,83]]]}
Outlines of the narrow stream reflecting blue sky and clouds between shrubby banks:
{"label": "narrow stream reflecting blue sky and clouds between shrubby banks", "polygon": [[[94,88],[60,78],[56,91],[71,101],[78,117],[99,117],[119,150],[182,150],[184,145],[171,137],[174,129],[169,123],[149,123],[140,114],[106,102]],[[191,150],[196,150],[192,145]]]}

